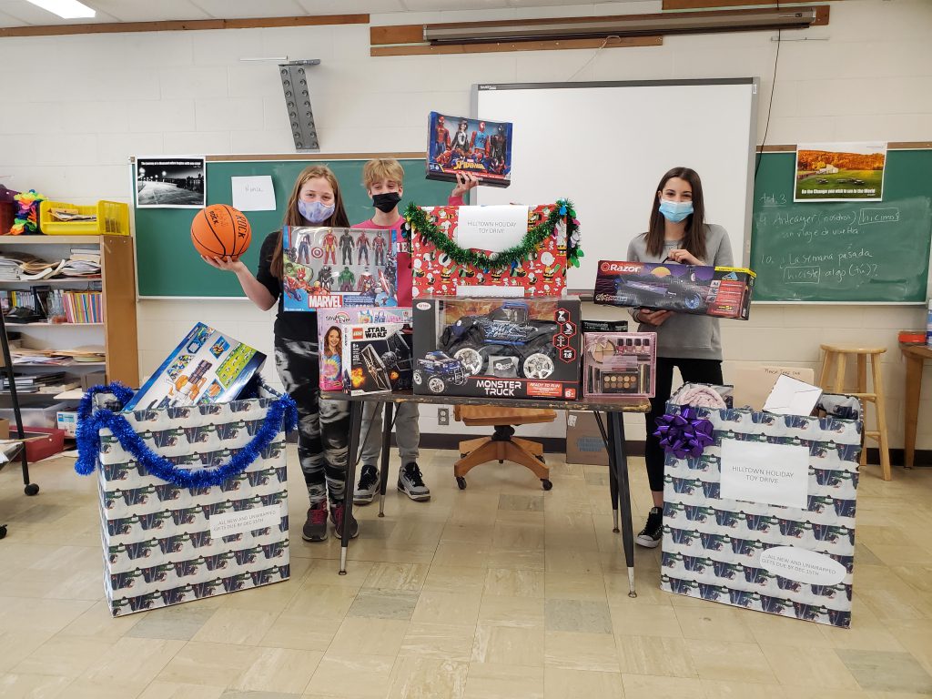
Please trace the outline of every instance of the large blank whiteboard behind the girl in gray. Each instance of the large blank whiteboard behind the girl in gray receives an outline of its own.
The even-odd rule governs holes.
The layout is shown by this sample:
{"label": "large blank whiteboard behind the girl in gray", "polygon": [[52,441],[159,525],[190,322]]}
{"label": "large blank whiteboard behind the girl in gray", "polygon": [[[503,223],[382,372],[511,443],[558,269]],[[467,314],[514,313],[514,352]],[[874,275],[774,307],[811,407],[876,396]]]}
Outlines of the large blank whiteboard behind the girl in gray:
{"label": "large blank whiteboard behind the girl in gray", "polygon": [[747,265],[757,142],[757,78],[473,86],[473,117],[514,123],[512,185],[479,187],[479,204],[576,208],[585,256],[570,289],[591,290],[600,259],[623,260],[647,230],[664,173],[699,173],[706,223]]}

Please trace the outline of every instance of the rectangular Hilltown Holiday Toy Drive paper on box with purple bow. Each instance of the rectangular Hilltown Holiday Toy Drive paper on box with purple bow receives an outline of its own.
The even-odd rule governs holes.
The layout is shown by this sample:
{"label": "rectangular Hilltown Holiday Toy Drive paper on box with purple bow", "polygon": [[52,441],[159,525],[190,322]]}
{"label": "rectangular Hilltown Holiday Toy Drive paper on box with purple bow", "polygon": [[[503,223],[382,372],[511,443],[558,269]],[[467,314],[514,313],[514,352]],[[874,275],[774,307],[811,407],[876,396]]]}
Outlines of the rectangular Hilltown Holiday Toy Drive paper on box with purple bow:
{"label": "rectangular Hilltown Holiday Toy Drive paper on box with purple bow", "polygon": [[721,440],[721,497],[805,508],[809,449],[738,439]]}

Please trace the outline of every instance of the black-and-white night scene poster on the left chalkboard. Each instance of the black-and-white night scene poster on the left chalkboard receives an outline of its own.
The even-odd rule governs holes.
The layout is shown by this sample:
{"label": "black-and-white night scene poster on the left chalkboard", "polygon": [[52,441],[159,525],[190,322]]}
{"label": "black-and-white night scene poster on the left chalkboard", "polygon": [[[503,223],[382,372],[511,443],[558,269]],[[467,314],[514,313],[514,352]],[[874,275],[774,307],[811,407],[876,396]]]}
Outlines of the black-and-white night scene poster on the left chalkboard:
{"label": "black-and-white night scene poster on the left chalkboard", "polygon": [[136,158],[136,208],[202,209],[206,205],[204,158]]}

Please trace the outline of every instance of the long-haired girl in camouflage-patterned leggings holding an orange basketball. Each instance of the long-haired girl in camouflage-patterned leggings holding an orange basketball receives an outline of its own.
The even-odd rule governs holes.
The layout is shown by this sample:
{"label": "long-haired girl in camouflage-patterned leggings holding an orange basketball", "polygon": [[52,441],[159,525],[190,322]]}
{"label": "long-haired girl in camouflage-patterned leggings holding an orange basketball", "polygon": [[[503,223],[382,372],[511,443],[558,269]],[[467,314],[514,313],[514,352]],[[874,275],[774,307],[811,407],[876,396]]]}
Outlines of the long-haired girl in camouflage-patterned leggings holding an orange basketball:
{"label": "long-haired girl in camouflage-patterned leggings holding an orange basketball", "polygon": [[[284,225],[349,227],[333,171],[322,165],[313,165],[298,175],[288,199]],[[320,400],[317,313],[285,311],[283,308],[281,238],[279,230],[270,233],[262,243],[255,276],[240,259],[202,257],[212,267],[234,272],[243,292],[257,307],[268,310],[278,304],[275,367],[285,390],[297,404],[298,458],[310,501],[302,536],[305,541],[324,541],[327,538],[328,500],[337,536],[345,513],[343,499],[349,451],[349,404],[346,401]],[[359,525],[355,518],[351,518],[349,536],[358,534]]]}

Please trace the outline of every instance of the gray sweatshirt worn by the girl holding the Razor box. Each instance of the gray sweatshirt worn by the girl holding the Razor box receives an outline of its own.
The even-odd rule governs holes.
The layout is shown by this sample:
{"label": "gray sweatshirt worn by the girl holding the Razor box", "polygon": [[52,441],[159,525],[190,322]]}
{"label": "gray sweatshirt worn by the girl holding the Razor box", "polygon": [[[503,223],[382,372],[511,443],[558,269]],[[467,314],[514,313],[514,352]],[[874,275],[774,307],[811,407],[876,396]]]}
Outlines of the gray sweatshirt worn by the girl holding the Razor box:
{"label": "gray sweatshirt worn by the girl holding the Razor box", "polygon": [[[682,247],[681,240],[666,240],[661,254],[648,254],[647,233],[641,233],[628,244],[628,254],[624,259],[629,262],[663,262],[671,250],[679,247]],[[706,225],[706,254],[700,259],[703,264],[716,267],[733,265],[732,243],[723,227]],[[632,316],[636,312],[637,308],[631,309]],[[637,330],[642,333],[657,333],[658,357],[721,359],[718,318],[674,312],[659,327],[642,322]]]}

